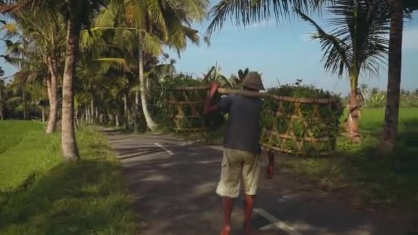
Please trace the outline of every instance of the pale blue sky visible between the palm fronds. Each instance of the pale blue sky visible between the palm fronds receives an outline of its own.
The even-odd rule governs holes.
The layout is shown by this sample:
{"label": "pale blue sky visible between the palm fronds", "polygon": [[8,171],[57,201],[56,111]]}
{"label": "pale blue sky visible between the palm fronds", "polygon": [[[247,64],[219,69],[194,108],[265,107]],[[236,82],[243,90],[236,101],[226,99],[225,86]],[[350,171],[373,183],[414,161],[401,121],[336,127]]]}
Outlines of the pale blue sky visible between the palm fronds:
{"label": "pale blue sky visible between the palm fronds", "polygon": [[[405,26],[401,84],[404,89],[411,90],[418,88],[418,14],[414,16],[415,21],[408,21]],[[326,26],[325,20],[318,17],[314,19],[321,26]],[[207,25],[208,21],[195,25],[195,28],[203,34]],[[181,54],[181,58],[174,52],[172,56],[177,60],[177,71],[195,76],[206,73],[217,62],[225,76],[236,74],[238,69],[245,67],[260,71],[266,87],[277,86],[279,82],[291,83],[302,78],[305,84],[336,93],[348,93],[347,78],[338,78],[324,71],[320,63],[320,45],[309,39],[311,32],[314,32],[311,25],[298,20],[282,21],[279,24],[270,21],[245,29],[238,29],[227,21],[221,31],[212,36],[209,47],[203,42],[200,46],[190,44]],[[3,45],[0,46],[0,51],[4,52]],[[0,60],[0,66],[5,70],[6,76],[15,71],[3,59]],[[380,67],[379,76],[364,76],[360,79],[360,83],[382,89],[386,87],[386,82],[386,65]]]}

